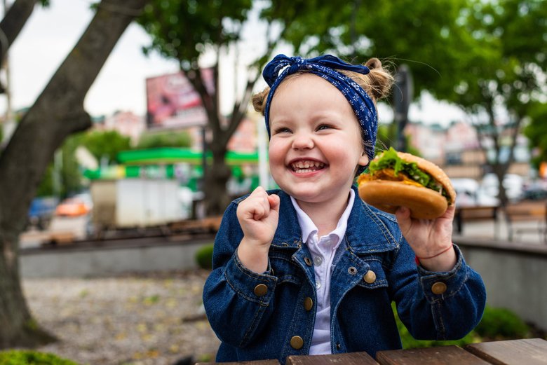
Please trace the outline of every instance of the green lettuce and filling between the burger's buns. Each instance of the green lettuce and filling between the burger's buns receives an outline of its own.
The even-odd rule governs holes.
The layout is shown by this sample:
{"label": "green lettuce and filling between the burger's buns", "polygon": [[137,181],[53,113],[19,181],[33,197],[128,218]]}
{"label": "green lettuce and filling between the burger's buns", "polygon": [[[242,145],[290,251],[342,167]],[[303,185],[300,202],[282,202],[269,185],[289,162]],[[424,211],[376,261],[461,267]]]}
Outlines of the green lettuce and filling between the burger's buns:
{"label": "green lettuce and filling between the burger's buns", "polygon": [[427,172],[420,170],[417,163],[410,163],[400,158],[392,147],[384,151],[379,159],[370,162],[368,173],[365,172],[358,177],[358,184],[371,180],[400,181],[403,184],[423,186],[438,191],[450,202],[450,197],[443,189],[443,185]]}

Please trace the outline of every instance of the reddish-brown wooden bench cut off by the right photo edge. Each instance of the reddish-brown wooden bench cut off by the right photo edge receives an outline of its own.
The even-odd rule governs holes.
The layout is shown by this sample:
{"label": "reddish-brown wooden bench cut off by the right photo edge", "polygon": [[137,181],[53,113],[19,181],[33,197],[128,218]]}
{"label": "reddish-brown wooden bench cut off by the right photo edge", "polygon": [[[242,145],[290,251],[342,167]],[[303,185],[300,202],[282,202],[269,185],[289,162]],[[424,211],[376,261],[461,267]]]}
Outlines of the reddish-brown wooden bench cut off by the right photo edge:
{"label": "reddish-brown wooden bench cut off by the right photo edge", "polygon": [[[504,209],[508,228],[508,240],[513,241],[519,233],[539,234],[540,241],[547,243],[547,202],[520,202]],[[519,223],[533,223],[536,226],[522,226]]]}

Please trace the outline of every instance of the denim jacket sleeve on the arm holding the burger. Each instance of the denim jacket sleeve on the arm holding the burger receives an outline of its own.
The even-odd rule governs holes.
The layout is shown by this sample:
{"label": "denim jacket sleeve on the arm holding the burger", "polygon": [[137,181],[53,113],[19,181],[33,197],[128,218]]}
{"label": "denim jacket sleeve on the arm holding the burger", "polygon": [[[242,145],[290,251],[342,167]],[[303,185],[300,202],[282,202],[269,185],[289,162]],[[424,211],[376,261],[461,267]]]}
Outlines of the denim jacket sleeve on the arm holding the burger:
{"label": "denim jacket sleeve on the arm holding the burger", "polygon": [[393,298],[398,315],[418,340],[457,340],[466,336],[482,317],[486,290],[478,273],[466,265],[454,245],[457,263],[452,270],[434,273],[414,262],[414,252],[404,240],[391,270],[396,283]]}

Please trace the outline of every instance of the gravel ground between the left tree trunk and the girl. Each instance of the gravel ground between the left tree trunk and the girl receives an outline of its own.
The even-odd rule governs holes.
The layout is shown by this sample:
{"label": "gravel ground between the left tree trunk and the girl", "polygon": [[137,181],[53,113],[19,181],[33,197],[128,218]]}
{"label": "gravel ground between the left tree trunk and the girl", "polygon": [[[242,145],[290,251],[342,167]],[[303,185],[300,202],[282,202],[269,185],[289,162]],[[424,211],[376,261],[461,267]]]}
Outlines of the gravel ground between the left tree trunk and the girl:
{"label": "gravel ground between the left tree trunk and the girl", "polygon": [[79,364],[212,361],[219,345],[203,315],[207,271],[90,279],[25,279],[34,318],[59,341],[38,348]]}

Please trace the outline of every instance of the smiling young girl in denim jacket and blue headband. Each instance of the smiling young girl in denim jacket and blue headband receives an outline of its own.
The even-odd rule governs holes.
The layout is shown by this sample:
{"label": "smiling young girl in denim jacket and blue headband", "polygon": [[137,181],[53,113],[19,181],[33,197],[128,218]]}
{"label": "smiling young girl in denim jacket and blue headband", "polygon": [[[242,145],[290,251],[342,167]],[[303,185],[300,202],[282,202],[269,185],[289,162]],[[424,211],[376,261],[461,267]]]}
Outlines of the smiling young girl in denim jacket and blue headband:
{"label": "smiling young girl in denim jacket and blue headband", "polygon": [[217,361],[398,349],[393,301],[414,338],[465,336],[485,288],[452,244],[454,207],[434,221],[393,216],[353,186],[393,81],[381,62],[278,55],[264,78],[253,104],[281,190],[256,188],[224,214],[203,291]]}

